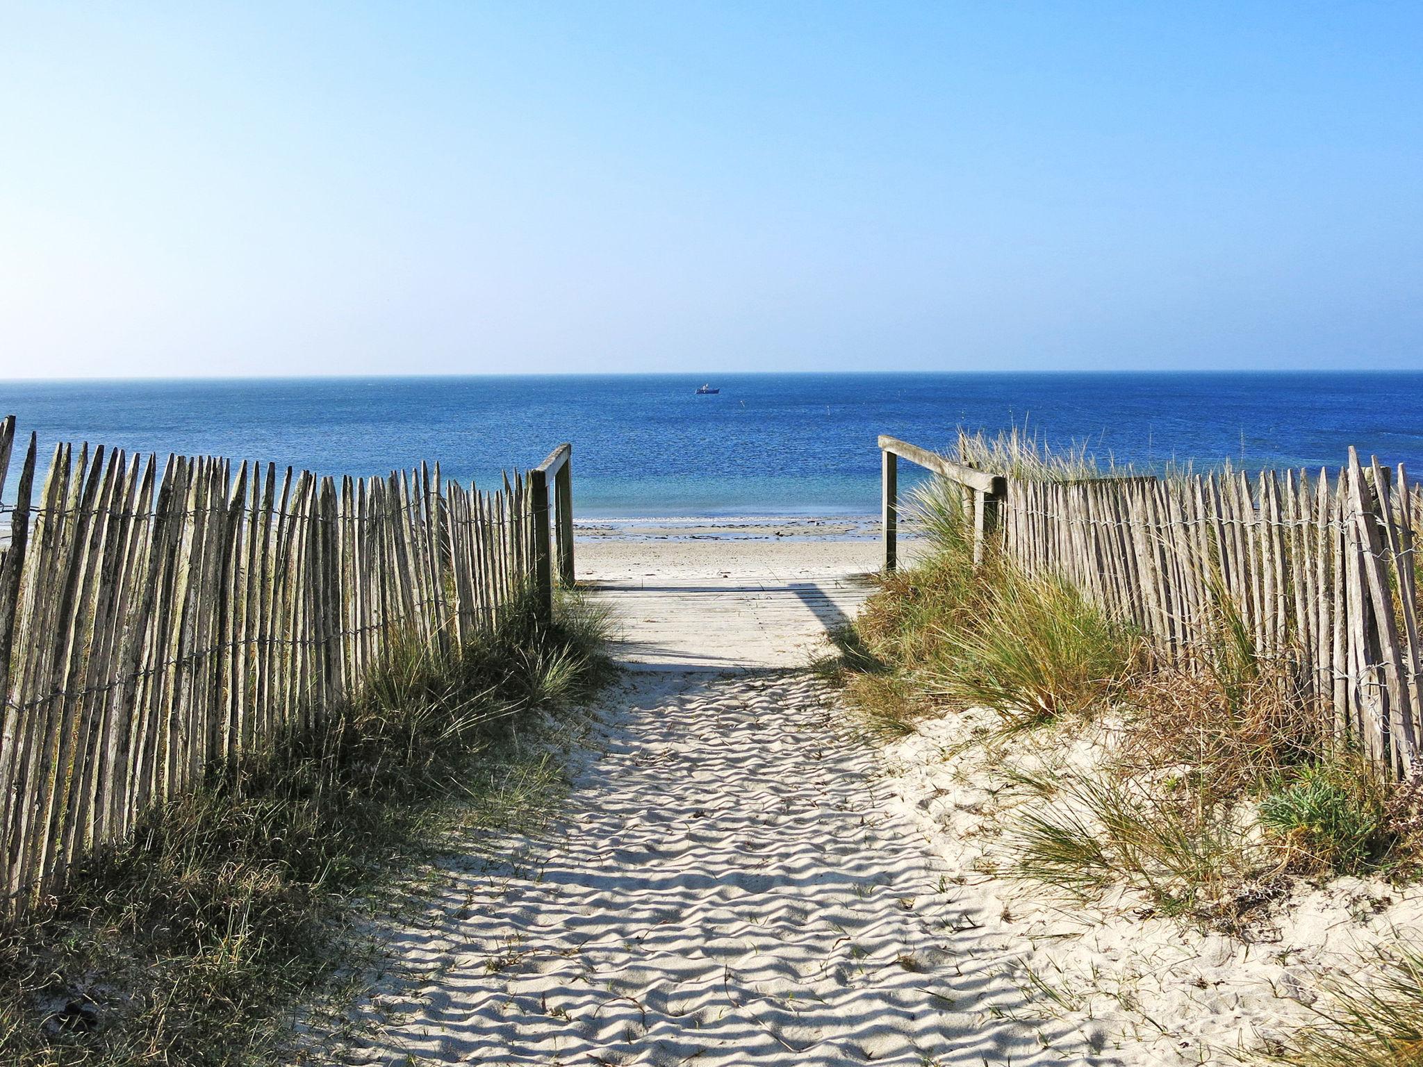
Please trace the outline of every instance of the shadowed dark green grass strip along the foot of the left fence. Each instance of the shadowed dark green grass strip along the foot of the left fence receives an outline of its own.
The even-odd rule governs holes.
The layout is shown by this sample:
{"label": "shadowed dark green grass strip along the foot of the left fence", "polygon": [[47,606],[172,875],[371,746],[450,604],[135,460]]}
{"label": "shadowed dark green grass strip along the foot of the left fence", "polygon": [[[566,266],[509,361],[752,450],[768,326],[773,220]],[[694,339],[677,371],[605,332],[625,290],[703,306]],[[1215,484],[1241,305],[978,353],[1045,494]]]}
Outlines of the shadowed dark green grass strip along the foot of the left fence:
{"label": "shadowed dark green grass strip along the foot of the left fence", "polygon": [[605,629],[569,598],[548,627],[527,606],[462,649],[398,643],[319,728],[149,811],[0,933],[0,1061],[290,1061],[290,1012],[359,959],[354,896],[546,808],[519,731],[601,684]]}

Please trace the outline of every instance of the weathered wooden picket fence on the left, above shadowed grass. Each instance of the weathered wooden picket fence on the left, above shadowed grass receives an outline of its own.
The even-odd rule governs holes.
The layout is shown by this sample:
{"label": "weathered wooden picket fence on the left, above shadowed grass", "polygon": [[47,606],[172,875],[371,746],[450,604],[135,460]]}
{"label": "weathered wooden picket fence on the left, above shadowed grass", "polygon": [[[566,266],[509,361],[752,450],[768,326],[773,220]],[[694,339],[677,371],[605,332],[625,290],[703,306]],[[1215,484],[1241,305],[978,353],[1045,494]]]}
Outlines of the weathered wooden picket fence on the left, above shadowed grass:
{"label": "weathered wooden picket fence on the left, above shadowed grass", "polygon": [[[0,491],[14,441],[11,415]],[[438,465],[337,481],[60,445],[33,501],[36,451],[0,548],[0,915],[310,726],[397,636],[462,642],[528,603],[541,558],[548,573],[542,477],[535,501],[518,474],[480,492]]]}

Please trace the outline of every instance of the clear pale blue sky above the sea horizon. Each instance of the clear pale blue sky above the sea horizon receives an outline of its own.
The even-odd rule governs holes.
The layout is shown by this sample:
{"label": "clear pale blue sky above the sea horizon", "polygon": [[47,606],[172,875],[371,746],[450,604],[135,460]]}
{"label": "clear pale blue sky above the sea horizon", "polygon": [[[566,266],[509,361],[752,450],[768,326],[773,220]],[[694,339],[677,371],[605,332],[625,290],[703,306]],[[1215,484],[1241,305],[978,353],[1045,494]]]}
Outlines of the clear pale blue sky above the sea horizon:
{"label": "clear pale blue sky above the sea horizon", "polygon": [[0,0],[0,377],[1423,367],[1420,3]]}

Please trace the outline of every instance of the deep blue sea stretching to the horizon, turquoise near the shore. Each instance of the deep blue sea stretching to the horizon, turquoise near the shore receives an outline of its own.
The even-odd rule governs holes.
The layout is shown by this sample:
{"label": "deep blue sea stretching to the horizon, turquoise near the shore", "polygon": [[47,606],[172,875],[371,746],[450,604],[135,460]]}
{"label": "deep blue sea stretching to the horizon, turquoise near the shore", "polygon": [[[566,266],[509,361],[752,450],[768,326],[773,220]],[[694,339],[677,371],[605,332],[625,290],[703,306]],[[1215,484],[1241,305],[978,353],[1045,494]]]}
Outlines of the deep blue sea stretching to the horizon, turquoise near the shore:
{"label": "deep blue sea stretching to the horizon, turquoise near the shore", "polygon": [[[1423,374],[756,374],[0,383],[41,442],[461,481],[573,442],[586,516],[869,514],[875,435],[943,447],[1029,420],[1140,465],[1423,465]],[[11,479],[13,485],[13,479]]]}

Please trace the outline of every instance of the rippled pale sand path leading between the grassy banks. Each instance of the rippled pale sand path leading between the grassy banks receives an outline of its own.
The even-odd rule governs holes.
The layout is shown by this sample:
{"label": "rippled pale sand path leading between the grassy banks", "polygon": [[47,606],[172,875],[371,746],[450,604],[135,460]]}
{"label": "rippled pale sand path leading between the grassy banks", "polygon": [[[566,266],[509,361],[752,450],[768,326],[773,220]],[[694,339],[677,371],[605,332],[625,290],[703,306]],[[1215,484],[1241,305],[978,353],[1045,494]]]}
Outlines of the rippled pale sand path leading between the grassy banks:
{"label": "rippled pale sand path leading between the grassy banks", "polygon": [[804,673],[628,676],[559,827],[445,872],[343,1061],[1093,1061],[838,721]]}

